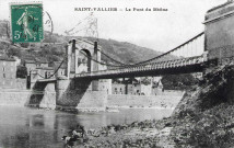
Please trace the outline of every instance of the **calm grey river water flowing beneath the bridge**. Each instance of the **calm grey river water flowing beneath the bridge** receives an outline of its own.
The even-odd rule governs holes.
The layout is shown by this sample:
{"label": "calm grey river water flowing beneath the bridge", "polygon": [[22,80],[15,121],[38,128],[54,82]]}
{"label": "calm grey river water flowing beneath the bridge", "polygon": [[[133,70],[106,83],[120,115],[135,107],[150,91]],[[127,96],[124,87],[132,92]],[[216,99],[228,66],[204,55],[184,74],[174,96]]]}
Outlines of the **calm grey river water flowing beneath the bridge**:
{"label": "calm grey river water flowing beneath the bridge", "polygon": [[0,148],[62,148],[61,137],[80,124],[98,128],[109,124],[160,119],[168,109],[121,109],[119,113],[65,113],[51,110],[0,106]]}

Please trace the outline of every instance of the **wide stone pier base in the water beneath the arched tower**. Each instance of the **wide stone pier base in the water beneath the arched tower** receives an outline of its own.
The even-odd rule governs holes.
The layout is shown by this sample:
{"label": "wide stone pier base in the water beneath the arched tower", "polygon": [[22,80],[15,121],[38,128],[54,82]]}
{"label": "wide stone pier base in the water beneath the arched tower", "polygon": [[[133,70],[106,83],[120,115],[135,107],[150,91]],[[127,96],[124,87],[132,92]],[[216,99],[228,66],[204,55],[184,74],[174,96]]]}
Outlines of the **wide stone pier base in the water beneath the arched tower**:
{"label": "wide stone pier base in the water beneath the arched tower", "polygon": [[92,91],[91,80],[60,79],[56,84],[58,110],[105,110],[107,91]]}

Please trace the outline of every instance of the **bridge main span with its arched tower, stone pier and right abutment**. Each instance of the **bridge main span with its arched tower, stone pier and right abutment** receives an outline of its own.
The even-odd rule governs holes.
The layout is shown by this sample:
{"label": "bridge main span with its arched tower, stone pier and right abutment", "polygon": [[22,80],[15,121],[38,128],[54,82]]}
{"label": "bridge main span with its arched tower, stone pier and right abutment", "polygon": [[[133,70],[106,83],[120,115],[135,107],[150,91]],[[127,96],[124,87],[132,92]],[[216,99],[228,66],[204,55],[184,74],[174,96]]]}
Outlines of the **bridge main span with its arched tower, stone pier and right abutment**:
{"label": "bridge main span with its arched tower, stone pier and right abutment", "polygon": [[[98,79],[207,72],[234,62],[233,14],[233,2],[209,10],[203,22],[204,32],[157,57],[133,65],[113,59],[96,42],[70,41],[66,77],[54,80],[57,109],[104,110],[107,94],[98,90]],[[110,58],[116,65],[104,64],[101,56]]]}

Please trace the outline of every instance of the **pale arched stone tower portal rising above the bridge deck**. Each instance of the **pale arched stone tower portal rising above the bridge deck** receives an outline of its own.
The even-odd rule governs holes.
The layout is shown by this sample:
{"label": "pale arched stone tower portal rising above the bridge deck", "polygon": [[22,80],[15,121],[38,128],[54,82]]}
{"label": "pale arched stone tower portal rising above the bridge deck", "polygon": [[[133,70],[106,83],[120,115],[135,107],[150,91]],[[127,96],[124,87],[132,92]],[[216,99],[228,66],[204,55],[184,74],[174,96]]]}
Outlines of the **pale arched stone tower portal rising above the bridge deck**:
{"label": "pale arched stone tower portal rising above the bridge deck", "polygon": [[[72,39],[67,48],[67,71],[66,76],[68,79],[73,78],[75,73],[98,71],[101,62],[101,46],[97,42],[90,42],[85,39]],[[82,65],[81,56],[86,59],[86,69]],[[98,80],[92,81],[91,89],[93,91],[98,91]]]}

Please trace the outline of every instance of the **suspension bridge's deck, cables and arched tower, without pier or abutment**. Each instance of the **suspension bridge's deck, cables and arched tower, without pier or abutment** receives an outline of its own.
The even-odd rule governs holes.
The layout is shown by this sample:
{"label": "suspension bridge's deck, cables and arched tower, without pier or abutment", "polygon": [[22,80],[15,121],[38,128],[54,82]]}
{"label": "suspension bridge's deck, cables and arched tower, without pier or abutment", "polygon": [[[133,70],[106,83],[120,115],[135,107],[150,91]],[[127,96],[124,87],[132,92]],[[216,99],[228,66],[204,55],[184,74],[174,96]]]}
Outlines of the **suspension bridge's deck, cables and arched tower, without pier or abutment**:
{"label": "suspension bridge's deck, cables and arched tower, without pier or abutment", "polygon": [[[59,43],[56,44],[59,45]],[[54,76],[63,62],[67,65],[67,77],[69,79],[113,79],[202,72],[208,65],[208,57],[204,52],[204,32],[162,55],[131,65],[112,58],[102,50],[102,47],[97,47],[96,42],[92,43],[79,38],[72,39],[68,45],[67,55],[59,67],[47,78],[37,73],[40,77],[38,82],[56,81]],[[78,66],[79,55],[83,55],[87,59],[89,70],[86,72],[79,72],[81,71]],[[101,56],[106,56],[113,62],[101,61]],[[173,59],[168,59],[168,57],[173,57]],[[108,69],[98,70],[101,66],[106,66]],[[71,70],[72,67],[73,71]]]}

